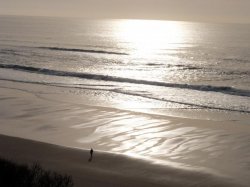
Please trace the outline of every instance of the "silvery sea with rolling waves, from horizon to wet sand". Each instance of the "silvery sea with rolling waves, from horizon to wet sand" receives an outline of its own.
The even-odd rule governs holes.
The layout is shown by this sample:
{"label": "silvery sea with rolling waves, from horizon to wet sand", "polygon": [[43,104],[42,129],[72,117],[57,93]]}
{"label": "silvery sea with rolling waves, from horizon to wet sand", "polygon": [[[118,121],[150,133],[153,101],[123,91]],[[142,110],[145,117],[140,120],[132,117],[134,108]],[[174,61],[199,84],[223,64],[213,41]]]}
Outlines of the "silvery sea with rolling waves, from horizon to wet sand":
{"label": "silvery sea with rolling waves, from horizon to wet sand", "polygon": [[140,100],[128,108],[250,113],[249,25],[34,17],[0,25],[1,79]]}

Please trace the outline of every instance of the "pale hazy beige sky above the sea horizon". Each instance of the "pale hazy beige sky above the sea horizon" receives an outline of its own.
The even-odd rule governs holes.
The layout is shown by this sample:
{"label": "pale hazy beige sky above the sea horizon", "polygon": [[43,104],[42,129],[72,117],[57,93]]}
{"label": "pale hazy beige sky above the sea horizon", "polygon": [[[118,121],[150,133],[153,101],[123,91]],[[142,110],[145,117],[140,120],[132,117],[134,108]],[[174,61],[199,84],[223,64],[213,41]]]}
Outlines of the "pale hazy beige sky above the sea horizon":
{"label": "pale hazy beige sky above the sea horizon", "polygon": [[0,0],[0,14],[250,23],[250,0]]}

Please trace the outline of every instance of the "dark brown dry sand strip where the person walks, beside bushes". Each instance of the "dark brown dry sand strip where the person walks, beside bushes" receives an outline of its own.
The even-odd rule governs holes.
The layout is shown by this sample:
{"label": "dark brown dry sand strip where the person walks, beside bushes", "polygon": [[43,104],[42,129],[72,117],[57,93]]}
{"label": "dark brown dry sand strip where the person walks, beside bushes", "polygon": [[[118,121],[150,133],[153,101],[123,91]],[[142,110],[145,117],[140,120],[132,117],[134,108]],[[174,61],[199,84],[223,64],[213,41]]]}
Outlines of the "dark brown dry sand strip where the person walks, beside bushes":
{"label": "dark brown dry sand strip where the person walks, beside bushes", "polygon": [[[75,186],[236,186],[224,178],[181,170],[119,154],[66,148],[0,136],[0,156],[18,163],[39,162],[44,168],[72,175]],[[239,186],[239,185],[237,185]]]}

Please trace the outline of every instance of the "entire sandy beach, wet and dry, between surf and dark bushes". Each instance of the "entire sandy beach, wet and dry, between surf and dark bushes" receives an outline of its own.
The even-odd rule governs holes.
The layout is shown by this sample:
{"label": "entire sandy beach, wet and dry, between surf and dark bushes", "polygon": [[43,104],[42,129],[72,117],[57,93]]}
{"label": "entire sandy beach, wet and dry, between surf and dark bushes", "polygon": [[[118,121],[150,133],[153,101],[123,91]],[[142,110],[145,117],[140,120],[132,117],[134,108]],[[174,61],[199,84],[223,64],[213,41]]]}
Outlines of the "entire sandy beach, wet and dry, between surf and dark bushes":
{"label": "entire sandy beach, wet and dry, between surf and dark bushes", "polygon": [[[86,105],[87,98],[57,89],[1,81],[0,133],[8,135],[0,137],[1,157],[38,161],[72,175],[76,186],[248,183],[244,120],[237,128],[230,120],[225,125],[94,107]],[[88,162],[90,147],[93,162]]]}

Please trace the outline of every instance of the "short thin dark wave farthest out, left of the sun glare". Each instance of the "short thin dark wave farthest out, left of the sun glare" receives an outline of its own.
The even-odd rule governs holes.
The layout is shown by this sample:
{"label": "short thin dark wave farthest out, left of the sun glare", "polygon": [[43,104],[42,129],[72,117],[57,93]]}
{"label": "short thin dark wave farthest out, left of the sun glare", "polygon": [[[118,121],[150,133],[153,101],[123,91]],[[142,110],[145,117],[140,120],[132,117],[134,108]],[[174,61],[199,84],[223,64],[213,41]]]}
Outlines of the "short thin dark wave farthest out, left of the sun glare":
{"label": "short thin dark wave farthest out, left of the sun glare", "polygon": [[113,54],[113,55],[129,55],[128,53],[104,51],[104,50],[92,50],[92,49],[76,49],[76,48],[61,48],[61,47],[38,47],[39,49],[47,49],[53,51],[70,51],[70,52],[82,52],[82,53],[101,53],[101,54]]}

